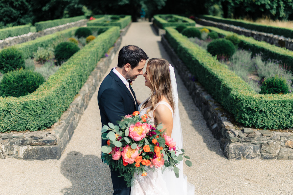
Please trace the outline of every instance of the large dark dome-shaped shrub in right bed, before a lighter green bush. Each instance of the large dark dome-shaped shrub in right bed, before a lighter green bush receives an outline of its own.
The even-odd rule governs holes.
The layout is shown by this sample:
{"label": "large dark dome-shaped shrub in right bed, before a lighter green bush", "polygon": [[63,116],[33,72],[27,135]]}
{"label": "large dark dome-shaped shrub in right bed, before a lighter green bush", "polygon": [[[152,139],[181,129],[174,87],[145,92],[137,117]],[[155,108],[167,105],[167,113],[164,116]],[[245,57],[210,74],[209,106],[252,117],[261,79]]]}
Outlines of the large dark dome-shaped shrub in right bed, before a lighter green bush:
{"label": "large dark dome-shaped shrub in right bed, before a lighter green bush", "polygon": [[217,58],[229,58],[235,53],[235,46],[233,43],[226,39],[215,39],[207,45],[207,51]]}

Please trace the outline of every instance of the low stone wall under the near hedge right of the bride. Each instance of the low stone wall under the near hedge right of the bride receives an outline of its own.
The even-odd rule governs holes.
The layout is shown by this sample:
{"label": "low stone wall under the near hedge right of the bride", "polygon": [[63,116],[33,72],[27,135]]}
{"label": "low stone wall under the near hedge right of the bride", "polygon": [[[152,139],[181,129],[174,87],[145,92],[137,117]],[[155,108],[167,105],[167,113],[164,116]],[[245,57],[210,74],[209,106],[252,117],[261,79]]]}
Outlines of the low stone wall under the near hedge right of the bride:
{"label": "low stone wall under the near hedge right of the bride", "polygon": [[173,48],[168,44],[164,35],[161,40],[164,48],[171,57],[173,66],[188,89],[193,102],[202,112],[216,139],[219,140],[224,155],[228,159],[262,158],[293,160],[292,129],[280,131],[256,130],[238,127],[231,121],[233,117],[222,106],[205,92],[196,77],[192,75],[183,62],[178,58]]}

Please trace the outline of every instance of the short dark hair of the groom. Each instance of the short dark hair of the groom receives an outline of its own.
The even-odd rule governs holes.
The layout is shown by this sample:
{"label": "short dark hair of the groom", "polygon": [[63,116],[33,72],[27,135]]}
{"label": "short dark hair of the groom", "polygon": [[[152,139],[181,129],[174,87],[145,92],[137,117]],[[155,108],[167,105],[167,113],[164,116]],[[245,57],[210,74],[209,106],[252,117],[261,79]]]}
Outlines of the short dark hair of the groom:
{"label": "short dark hair of the groom", "polygon": [[149,56],[136,45],[123,46],[118,54],[118,67],[122,68],[129,63],[131,68],[135,68],[139,62],[149,59]]}

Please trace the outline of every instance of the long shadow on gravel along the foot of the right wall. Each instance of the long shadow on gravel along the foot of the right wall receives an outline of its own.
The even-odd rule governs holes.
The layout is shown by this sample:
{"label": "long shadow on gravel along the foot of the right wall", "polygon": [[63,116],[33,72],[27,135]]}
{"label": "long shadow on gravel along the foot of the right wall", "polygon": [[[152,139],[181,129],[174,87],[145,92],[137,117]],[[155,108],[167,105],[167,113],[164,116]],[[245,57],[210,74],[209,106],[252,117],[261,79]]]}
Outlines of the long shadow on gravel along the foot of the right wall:
{"label": "long shadow on gravel along the foot of the right wall", "polygon": [[[158,42],[158,45],[161,51],[162,58],[165,58],[172,64],[172,61],[170,57],[168,56],[164,46],[161,44],[161,41]],[[177,69],[174,68],[174,70],[175,70],[176,81],[177,81],[178,98],[182,102],[182,105],[186,113],[188,114],[188,117],[192,121],[192,126],[202,137],[203,141],[207,145],[207,149],[225,158],[223,151],[220,147],[219,141],[213,137],[212,132],[210,132],[203,117],[201,118],[195,117],[195,112],[199,112],[200,115],[202,114],[200,110],[198,110],[198,108],[195,106],[193,100],[191,99],[191,96],[189,95],[189,92],[187,91],[183,81],[181,80],[181,77],[178,75]],[[202,123],[202,121],[204,121],[204,123]]]}

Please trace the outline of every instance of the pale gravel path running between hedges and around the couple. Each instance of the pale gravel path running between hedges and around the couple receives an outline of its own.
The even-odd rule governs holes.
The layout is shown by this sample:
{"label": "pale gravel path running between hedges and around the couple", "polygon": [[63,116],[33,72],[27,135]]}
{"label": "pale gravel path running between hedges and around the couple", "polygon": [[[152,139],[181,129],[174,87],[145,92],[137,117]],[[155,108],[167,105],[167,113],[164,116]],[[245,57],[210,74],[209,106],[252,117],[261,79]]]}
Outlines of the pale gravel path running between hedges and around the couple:
{"label": "pale gravel path running between hedges and around the couple", "polygon": [[[121,47],[135,44],[149,58],[170,61],[149,22],[132,23]],[[117,64],[115,55],[111,68]],[[145,66],[146,67],[146,66]],[[108,70],[110,72],[110,69]],[[105,75],[106,76],[106,75]],[[293,194],[293,162],[227,160],[183,82],[177,76],[180,118],[186,153],[193,166],[183,167],[195,194]],[[132,87],[142,101],[150,90],[139,76]],[[100,113],[93,95],[59,160],[0,160],[0,194],[112,194],[109,168],[100,160]]]}

